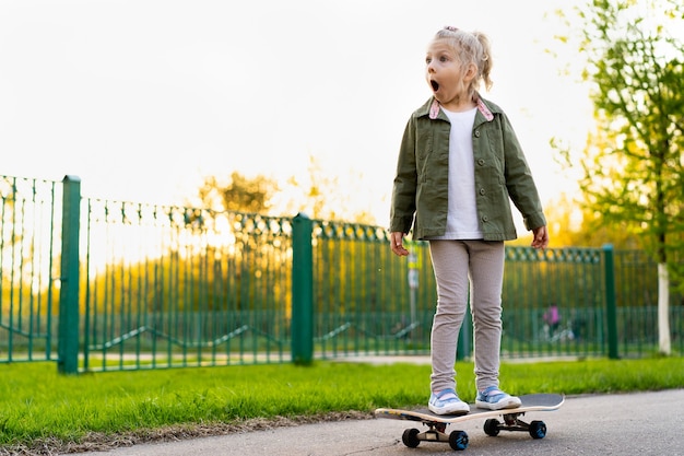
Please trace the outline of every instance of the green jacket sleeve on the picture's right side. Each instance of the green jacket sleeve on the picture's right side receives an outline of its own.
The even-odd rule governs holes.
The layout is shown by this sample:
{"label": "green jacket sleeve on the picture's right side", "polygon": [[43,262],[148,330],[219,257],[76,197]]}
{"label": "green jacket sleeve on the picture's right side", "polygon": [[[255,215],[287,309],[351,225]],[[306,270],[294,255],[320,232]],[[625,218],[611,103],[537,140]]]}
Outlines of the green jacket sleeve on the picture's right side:
{"label": "green jacket sleeve on the picture's right side", "polygon": [[546,224],[536,185],[528,166],[516,132],[505,114],[502,114],[504,132],[505,178],[508,196],[522,214],[524,227],[534,230]]}

